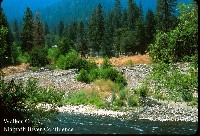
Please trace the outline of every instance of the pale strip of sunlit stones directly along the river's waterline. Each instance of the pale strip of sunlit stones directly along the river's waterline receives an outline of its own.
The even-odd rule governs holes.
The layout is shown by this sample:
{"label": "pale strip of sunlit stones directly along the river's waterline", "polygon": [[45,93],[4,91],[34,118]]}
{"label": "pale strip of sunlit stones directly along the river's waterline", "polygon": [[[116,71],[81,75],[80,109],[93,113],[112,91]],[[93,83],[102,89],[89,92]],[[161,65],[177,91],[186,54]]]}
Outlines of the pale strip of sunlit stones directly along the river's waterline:
{"label": "pale strip of sunlit stones directly along the river's waterline", "polygon": [[[52,107],[51,104],[40,103],[37,108],[43,108],[48,111]],[[184,122],[198,122],[198,109],[187,106],[186,103],[166,103],[144,106],[134,110],[128,111],[113,111],[107,109],[97,109],[92,105],[66,105],[55,108],[59,113],[79,114],[88,116],[112,117],[122,120],[137,121],[184,121]]]}

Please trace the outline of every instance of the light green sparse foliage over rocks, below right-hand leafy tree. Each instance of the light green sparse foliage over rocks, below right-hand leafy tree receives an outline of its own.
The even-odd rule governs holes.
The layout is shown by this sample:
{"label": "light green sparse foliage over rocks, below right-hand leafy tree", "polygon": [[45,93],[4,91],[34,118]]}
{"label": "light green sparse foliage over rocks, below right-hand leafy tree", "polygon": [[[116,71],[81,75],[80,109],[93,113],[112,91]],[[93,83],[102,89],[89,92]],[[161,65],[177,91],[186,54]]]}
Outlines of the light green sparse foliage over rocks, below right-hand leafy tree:
{"label": "light green sparse foliage over rocks, below right-hand leafy tree", "polygon": [[155,96],[160,99],[192,101],[192,94],[198,88],[198,69],[193,65],[189,66],[189,70],[182,72],[173,65],[155,64],[144,84],[148,88],[153,86]]}

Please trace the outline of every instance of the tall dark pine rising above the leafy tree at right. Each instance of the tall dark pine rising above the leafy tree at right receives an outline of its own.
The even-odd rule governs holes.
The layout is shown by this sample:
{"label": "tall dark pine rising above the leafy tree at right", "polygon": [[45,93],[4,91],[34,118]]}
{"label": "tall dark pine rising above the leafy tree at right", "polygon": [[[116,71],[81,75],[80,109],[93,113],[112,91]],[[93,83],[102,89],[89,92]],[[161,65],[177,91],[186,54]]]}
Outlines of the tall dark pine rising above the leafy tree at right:
{"label": "tall dark pine rising above the leafy tree at right", "polygon": [[157,29],[167,32],[174,26],[172,20],[174,18],[175,7],[177,0],[157,0],[156,6],[156,20],[157,20]]}

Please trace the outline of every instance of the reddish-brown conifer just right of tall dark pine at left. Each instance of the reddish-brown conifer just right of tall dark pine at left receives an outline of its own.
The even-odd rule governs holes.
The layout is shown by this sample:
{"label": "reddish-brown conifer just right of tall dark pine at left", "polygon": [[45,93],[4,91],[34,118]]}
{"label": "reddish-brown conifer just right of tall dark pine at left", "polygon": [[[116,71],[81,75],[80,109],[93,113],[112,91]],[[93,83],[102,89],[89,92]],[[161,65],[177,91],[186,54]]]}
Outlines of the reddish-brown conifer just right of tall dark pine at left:
{"label": "reddish-brown conifer just right of tall dark pine at left", "polygon": [[44,47],[45,46],[44,28],[38,13],[35,16],[34,25],[35,25],[34,46]]}

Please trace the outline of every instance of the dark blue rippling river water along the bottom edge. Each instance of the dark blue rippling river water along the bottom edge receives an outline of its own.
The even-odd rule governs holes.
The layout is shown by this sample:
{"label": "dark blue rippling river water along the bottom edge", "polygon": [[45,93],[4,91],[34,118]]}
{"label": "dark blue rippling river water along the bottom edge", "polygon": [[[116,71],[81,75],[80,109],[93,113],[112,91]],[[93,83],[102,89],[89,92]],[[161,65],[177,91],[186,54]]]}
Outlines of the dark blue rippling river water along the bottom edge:
{"label": "dark blue rippling river water along the bottom edge", "polygon": [[59,113],[46,121],[47,134],[195,134],[198,123],[127,121],[109,117]]}

